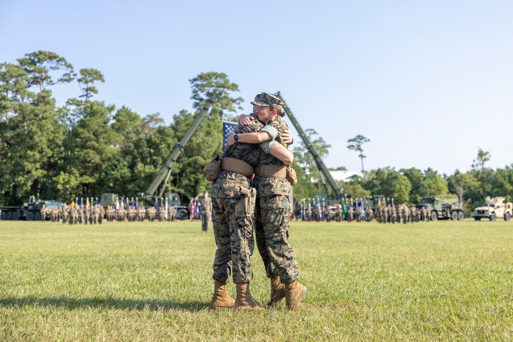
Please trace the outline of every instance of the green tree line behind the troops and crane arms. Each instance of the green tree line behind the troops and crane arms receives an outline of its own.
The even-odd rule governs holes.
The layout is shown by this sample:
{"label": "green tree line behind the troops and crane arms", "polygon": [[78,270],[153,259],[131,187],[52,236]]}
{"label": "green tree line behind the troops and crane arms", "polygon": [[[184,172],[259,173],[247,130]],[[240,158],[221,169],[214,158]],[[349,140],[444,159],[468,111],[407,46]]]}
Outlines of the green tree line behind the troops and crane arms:
{"label": "green tree line behind the troops and crane arms", "polygon": [[[0,64],[0,205],[18,205],[29,196],[60,199],[117,193],[136,197],[147,189],[177,142],[192,124],[194,115],[210,94],[221,94],[218,103],[200,124],[172,170],[166,191],[191,198],[210,183],[203,172],[214,153],[222,153],[222,120],[233,120],[243,99],[233,94],[239,86],[224,73],[201,73],[189,80],[192,111],[173,115],[166,125],[159,113],[141,115],[126,106],[96,100],[97,85],[106,80],[101,71],[83,68],[75,73],[62,56],[48,51],[27,53],[17,63]],[[54,87],[73,85],[76,97],[56,106]],[[307,129],[321,157],[330,145]],[[348,149],[359,152],[369,141],[358,135]],[[294,200],[325,193],[322,177],[306,147],[293,148],[299,183]],[[363,179],[341,184],[353,198],[381,194],[396,203],[418,203],[422,197],[461,197],[467,210],[486,196],[513,199],[513,164],[492,170],[485,166],[489,152],[479,149],[471,170],[452,175],[416,168],[391,167],[365,172]],[[344,169],[340,167],[339,169]],[[313,182],[312,182],[313,180]]]}

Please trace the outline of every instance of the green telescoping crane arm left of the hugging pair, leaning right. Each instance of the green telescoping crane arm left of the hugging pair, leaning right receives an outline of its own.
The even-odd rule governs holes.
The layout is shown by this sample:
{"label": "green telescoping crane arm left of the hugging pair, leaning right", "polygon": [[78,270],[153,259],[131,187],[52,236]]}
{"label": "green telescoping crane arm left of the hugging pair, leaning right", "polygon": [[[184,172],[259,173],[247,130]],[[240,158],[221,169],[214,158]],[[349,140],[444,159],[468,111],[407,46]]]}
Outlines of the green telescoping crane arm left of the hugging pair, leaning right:
{"label": "green telescoping crane arm left of the hugging pair, leaning right", "polygon": [[164,194],[164,189],[166,187],[167,180],[169,179],[169,175],[171,174],[171,170],[176,163],[176,159],[182,154],[182,152],[185,149],[185,145],[189,142],[189,139],[191,138],[192,134],[196,131],[198,126],[201,123],[201,120],[205,117],[205,115],[208,113],[208,110],[216,100],[218,100],[219,94],[217,92],[213,92],[210,98],[206,100],[205,105],[200,110],[198,114],[196,114],[196,117],[194,118],[194,122],[192,123],[191,127],[185,132],[185,135],[182,137],[182,140],[180,140],[180,143],[176,144],[173,151],[169,155],[169,157],[166,159],[166,162],[162,166],[159,174],[153,179],[153,182],[148,187],[148,190],[146,190],[146,196],[147,198],[153,197],[157,189],[159,188],[159,185],[162,183],[162,180],[166,178],[166,180],[163,183],[163,186],[161,187],[161,191],[159,193],[159,197],[162,197]]}

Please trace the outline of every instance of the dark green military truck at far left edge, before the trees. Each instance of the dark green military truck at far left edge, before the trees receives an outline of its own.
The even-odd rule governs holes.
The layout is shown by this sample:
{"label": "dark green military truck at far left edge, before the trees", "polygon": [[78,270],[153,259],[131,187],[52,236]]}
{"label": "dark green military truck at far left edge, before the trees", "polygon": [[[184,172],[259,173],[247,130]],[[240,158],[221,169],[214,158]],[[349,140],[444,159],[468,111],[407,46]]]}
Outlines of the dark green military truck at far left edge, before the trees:
{"label": "dark green military truck at far left edge, before the trees", "polygon": [[35,199],[34,196],[31,196],[29,201],[24,203],[23,206],[0,207],[0,210],[2,210],[0,219],[2,219],[2,221],[17,221],[21,219],[26,219],[27,221],[41,221],[41,208],[43,205],[46,206],[46,217],[50,219],[49,213],[51,208],[60,207],[63,203],[58,200]]}

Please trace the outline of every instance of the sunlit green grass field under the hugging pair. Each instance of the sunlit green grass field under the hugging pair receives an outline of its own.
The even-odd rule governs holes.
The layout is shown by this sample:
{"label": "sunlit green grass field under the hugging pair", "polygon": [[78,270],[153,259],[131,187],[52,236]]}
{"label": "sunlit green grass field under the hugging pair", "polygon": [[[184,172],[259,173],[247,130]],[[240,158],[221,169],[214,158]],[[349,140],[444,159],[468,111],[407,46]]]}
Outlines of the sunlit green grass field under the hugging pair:
{"label": "sunlit green grass field under the hugging pair", "polygon": [[[511,222],[293,222],[290,242],[298,312],[210,311],[199,222],[0,222],[0,340],[513,339]],[[253,270],[266,303],[258,251]]]}

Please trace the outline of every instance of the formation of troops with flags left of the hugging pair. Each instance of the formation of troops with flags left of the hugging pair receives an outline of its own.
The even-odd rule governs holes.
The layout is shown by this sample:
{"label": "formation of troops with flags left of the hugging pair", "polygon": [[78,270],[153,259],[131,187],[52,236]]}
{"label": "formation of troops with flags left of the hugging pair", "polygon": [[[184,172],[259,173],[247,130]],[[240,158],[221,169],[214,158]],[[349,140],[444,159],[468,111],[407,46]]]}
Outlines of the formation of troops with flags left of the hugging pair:
{"label": "formation of troops with flags left of the hugging pair", "polygon": [[[116,212],[117,211],[117,212]],[[167,208],[168,221],[174,221],[176,210],[174,207]],[[77,225],[77,224],[102,224],[103,220],[108,222],[142,222],[148,219],[148,222],[159,220],[166,220],[166,208],[159,207],[145,207],[135,208],[135,206],[128,206],[116,208],[108,206],[104,208],[100,205],[85,205],[85,206],[72,206],[66,203],[60,207],[46,208],[45,205],[41,208],[41,220],[49,218],[51,222],[62,222],[63,225]]]}

